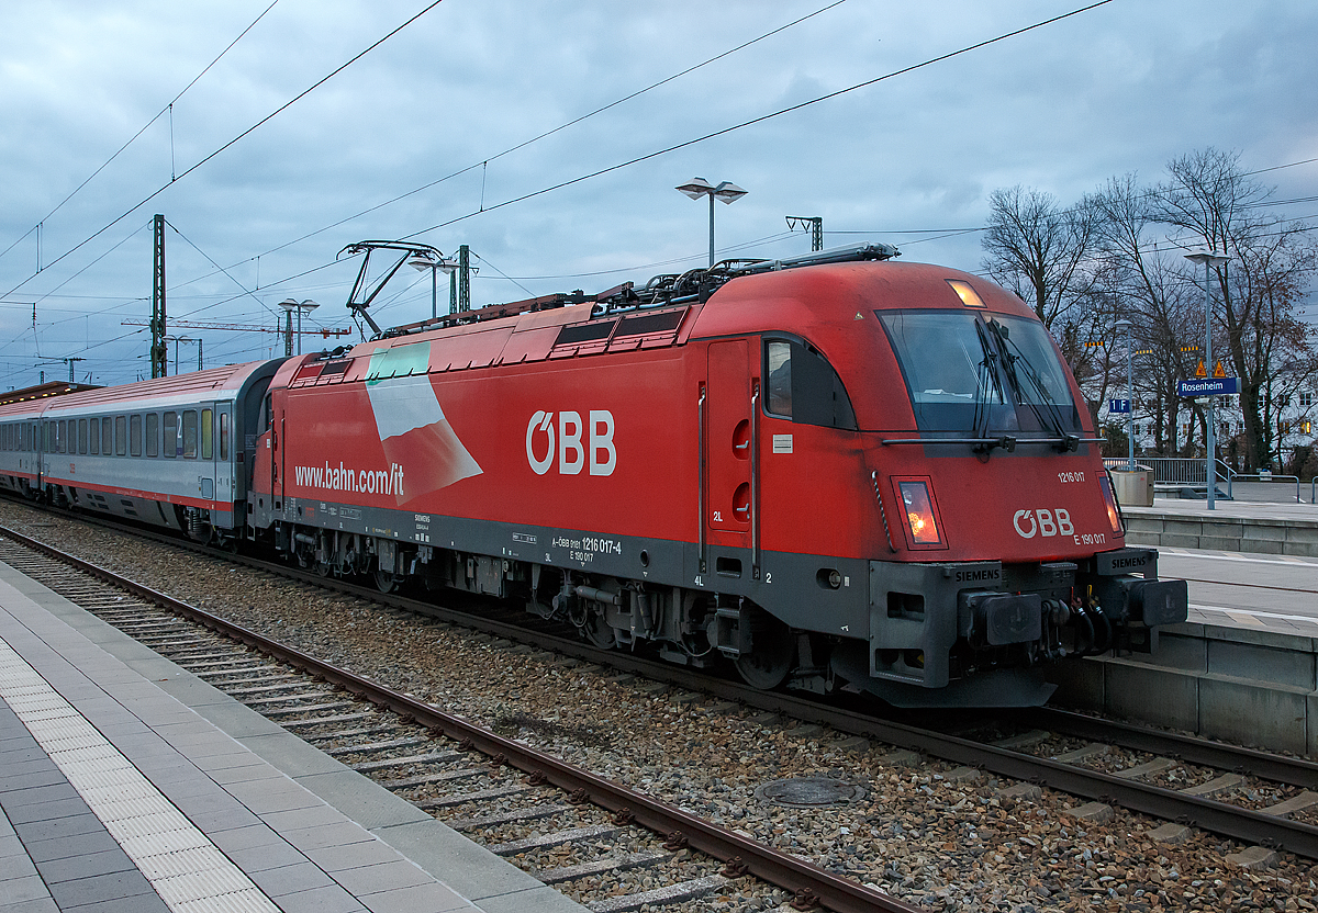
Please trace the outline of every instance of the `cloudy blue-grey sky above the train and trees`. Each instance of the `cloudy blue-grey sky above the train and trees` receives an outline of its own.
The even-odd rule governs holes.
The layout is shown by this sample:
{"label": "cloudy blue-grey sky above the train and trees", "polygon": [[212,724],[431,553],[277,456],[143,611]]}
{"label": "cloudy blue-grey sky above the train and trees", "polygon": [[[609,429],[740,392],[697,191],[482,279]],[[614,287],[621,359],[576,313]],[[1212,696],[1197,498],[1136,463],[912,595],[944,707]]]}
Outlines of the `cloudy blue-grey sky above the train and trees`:
{"label": "cloudy blue-grey sky above the train and trees", "polygon": [[[358,261],[335,257],[364,238],[471,245],[473,304],[702,265],[708,206],[673,190],[695,175],[749,191],[718,206],[726,256],[804,253],[784,216],[821,216],[826,246],[971,271],[998,187],[1070,203],[1217,146],[1275,169],[1278,199],[1314,196],[1318,4],[1111,0],[1029,29],[1083,5],[5,3],[4,387],[67,377],[62,358],[79,381],[149,375],[149,333],[124,321],[150,316],[157,212],[170,318],[272,328],[287,298],[351,327]],[[406,273],[382,325],[430,315],[428,274]],[[270,332],[171,332],[208,365],[282,352]]]}

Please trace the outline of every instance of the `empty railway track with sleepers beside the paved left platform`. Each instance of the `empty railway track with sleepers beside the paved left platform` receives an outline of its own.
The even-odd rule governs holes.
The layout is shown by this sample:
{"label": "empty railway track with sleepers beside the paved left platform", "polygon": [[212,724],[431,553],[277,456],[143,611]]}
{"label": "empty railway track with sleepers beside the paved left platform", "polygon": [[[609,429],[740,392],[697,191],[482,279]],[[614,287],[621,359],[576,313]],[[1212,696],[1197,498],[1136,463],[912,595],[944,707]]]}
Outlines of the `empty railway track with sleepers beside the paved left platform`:
{"label": "empty railway track with sleepers beside the paved left platform", "polygon": [[588,900],[594,913],[692,900],[746,877],[800,910],[919,909],[17,532],[0,536],[0,560],[546,884],[638,870],[658,883]]}

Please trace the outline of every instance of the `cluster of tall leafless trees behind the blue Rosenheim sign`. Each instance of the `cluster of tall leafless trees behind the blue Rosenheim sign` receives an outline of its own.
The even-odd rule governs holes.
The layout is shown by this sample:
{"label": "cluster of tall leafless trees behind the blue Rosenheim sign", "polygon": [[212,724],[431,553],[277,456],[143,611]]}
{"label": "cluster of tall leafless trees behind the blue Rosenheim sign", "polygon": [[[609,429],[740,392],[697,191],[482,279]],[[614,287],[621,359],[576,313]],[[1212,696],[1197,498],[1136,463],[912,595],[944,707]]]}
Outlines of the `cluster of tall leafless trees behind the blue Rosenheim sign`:
{"label": "cluster of tall leafless trees behind the blue Rosenheim sign", "polygon": [[1130,320],[1136,399],[1153,418],[1155,445],[1191,456],[1206,410],[1181,401],[1177,382],[1203,358],[1203,271],[1185,254],[1228,254],[1211,273],[1219,302],[1213,348],[1240,379],[1246,468],[1268,466],[1285,433],[1281,403],[1318,377],[1313,328],[1297,316],[1318,274],[1318,245],[1310,225],[1269,215],[1273,203],[1273,191],[1251,179],[1236,154],[1215,149],[1173,159],[1159,186],[1112,178],[1072,208],[1041,191],[998,190],[983,269],[1052,331],[1095,418],[1114,373],[1124,374],[1114,324]]}

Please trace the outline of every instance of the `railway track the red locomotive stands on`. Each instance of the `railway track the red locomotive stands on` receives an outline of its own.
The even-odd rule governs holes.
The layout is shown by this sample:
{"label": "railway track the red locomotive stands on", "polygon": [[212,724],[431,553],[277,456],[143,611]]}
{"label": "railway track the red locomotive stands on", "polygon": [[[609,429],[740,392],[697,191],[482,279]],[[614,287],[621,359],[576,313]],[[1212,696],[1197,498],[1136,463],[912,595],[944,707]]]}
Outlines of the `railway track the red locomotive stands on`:
{"label": "railway track the red locomotive stands on", "polygon": [[[293,576],[320,585],[332,582],[344,592],[358,597],[369,595],[398,609],[442,614],[459,619],[463,624],[484,627],[490,636],[521,638],[538,644],[534,648],[506,644],[511,651],[550,648],[581,661],[609,664],[621,673],[643,675],[673,686],[699,689],[725,702],[760,710],[766,717],[787,714],[805,723],[825,725],[838,733],[879,740],[896,750],[883,759],[894,768],[911,765],[919,769],[929,758],[941,759],[944,769],[932,776],[944,783],[973,787],[986,779],[991,784],[994,777],[1011,777],[1015,783],[994,789],[995,798],[1006,804],[1029,806],[1037,801],[1041,789],[1057,789],[1089,800],[1073,805],[1069,812],[1081,825],[1104,821],[1114,808],[1131,809],[1166,822],[1153,831],[1157,839],[1174,843],[1186,839],[1188,830],[1198,827],[1246,843],[1239,852],[1231,854],[1242,866],[1253,866],[1275,850],[1290,851],[1307,859],[1318,858],[1318,829],[1313,823],[1313,813],[1318,810],[1313,805],[1318,768],[1304,759],[1278,758],[1053,710],[1017,714],[995,725],[977,721],[973,727],[958,727],[956,721],[945,721],[942,731],[927,726],[907,726],[891,719],[876,719],[863,709],[825,706],[796,696],[754,692],[730,681],[693,677],[680,667],[596,651],[576,639],[555,636],[543,627],[529,634],[507,619],[486,621],[436,610],[428,603],[414,603],[397,595],[382,597],[351,584],[323,581],[295,570]],[[260,682],[249,686],[260,686]],[[295,731],[298,726],[303,725],[294,723]],[[314,727],[306,731],[315,733]],[[952,765],[950,769],[946,765]],[[410,776],[414,775],[402,779]],[[422,788],[424,784],[416,787]],[[509,787],[510,784],[486,784],[468,792]],[[423,796],[420,801],[426,798]],[[513,801],[513,794],[492,798],[507,804]],[[443,814],[449,816],[449,812]],[[480,817],[463,809],[451,814]],[[606,823],[594,821],[581,826]],[[511,822],[503,826],[513,827]],[[536,826],[535,830],[543,827]],[[480,834],[490,841],[501,839],[484,831]],[[563,855],[563,851],[554,852]]]}

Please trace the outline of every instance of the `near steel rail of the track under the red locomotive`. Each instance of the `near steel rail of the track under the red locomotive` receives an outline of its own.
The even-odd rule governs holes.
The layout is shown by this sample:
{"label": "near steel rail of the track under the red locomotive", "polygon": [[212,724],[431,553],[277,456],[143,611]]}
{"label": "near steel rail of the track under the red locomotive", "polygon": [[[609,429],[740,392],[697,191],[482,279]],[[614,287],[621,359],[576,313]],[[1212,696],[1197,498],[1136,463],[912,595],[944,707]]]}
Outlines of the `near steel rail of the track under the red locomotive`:
{"label": "near steel rail of the track under the red locomotive", "polygon": [[[178,544],[178,540],[173,539],[161,538],[161,540]],[[240,557],[239,560],[249,567],[260,567],[268,570],[272,569],[269,563],[262,563],[257,559]],[[310,572],[302,572],[278,565],[275,565],[274,569],[295,580],[304,580],[320,586],[328,585],[326,578]],[[1118,777],[1099,771],[1068,765],[1062,761],[1054,761],[1050,759],[1010,751],[1007,748],[999,748],[996,746],[985,744],[973,739],[963,739],[927,729],[907,726],[900,722],[878,719],[865,713],[828,706],[812,698],[783,694],[780,692],[755,690],[739,682],[696,675],[685,667],[647,660],[645,657],[621,653],[618,651],[601,651],[573,638],[560,638],[543,631],[531,632],[526,627],[507,622],[473,617],[451,609],[440,609],[434,603],[403,597],[382,595],[377,590],[357,586],[355,584],[347,584],[344,581],[335,581],[333,589],[362,598],[376,599],[398,609],[428,614],[443,621],[464,624],[467,627],[482,630],[489,634],[514,640],[526,640],[530,634],[534,634],[534,639],[538,646],[559,651],[568,656],[593,663],[609,664],[621,671],[645,675],[650,678],[672,685],[704,690],[717,697],[738,701],[759,710],[787,713],[797,719],[828,725],[845,733],[865,735],[900,748],[921,751],[934,758],[969,767],[977,767],[999,776],[1048,787],[1073,796],[1116,804],[1132,812],[1140,812],[1165,821],[1189,823],[1232,839],[1282,848],[1307,859],[1318,859],[1318,827],[1314,825],[1306,825],[1304,822],[1264,814],[1261,812],[1244,809],[1211,798],[1162,789],[1160,787],[1127,780],[1124,777]],[[1075,725],[1078,726],[1079,723]],[[1131,727],[1131,730],[1135,729],[1136,727]],[[1130,736],[1133,739],[1135,733],[1132,731]],[[1143,744],[1147,746],[1144,750],[1157,754],[1181,754],[1180,746],[1174,751],[1166,751],[1166,742],[1172,740],[1170,736],[1168,736],[1161,746],[1153,740],[1153,735],[1144,735],[1140,738],[1147,739],[1143,742]],[[1185,736],[1182,736],[1182,739],[1184,738]],[[1210,743],[1203,743],[1203,752],[1209,751],[1206,747],[1207,744]],[[1189,746],[1185,746],[1185,754],[1182,754],[1182,758],[1188,758],[1189,751]],[[1218,751],[1224,752],[1222,755],[1222,763],[1210,765],[1223,767],[1230,771],[1246,767],[1249,772],[1255,772],[1249,768],[1249,764],[1255,760],[1259,760],[1260,764],[1263,764],[1264,759],[1272,758],[1264,752],[1252,752],[1249,750],[1222,746],[1218,747]],[[1209,758],[1207,754],[1202,754],[1199,756]],[[1244,760],[1244,764],[1242,763],[1242,759]],[[1209,764],[1207,760],[1201,763]],[[1276,764],[1273,767],[1276,767]],[[1260,773],[1260,776],[1267,775]],[[1289,783],[1290,780],[1284,779],[1282,781]]]}

